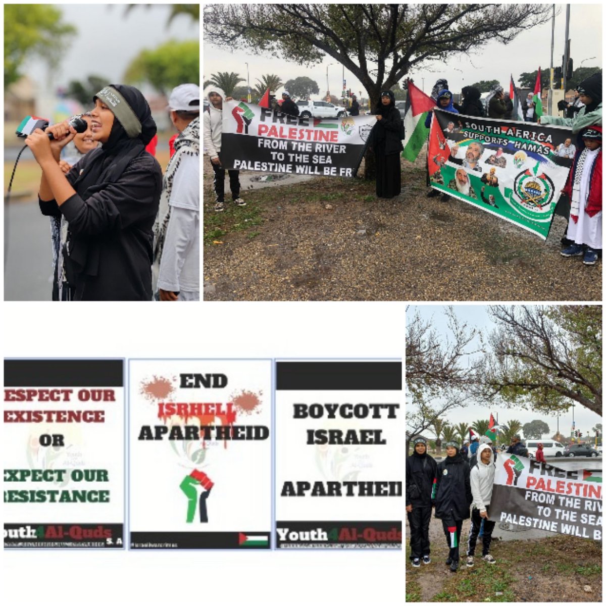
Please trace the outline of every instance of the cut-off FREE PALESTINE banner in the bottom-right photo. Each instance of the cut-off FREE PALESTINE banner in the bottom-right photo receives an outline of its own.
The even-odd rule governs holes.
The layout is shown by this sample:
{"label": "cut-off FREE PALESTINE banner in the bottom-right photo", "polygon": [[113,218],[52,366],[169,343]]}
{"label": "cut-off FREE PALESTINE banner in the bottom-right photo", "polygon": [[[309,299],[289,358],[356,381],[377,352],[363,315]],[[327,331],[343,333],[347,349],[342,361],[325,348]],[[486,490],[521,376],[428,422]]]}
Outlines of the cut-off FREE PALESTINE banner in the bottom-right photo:
{"label": "cut-off FREE PALESTINE banner in the bottom-right photo", "polygon": [[601,541],[602,471],[564,470],[499,453],[490,519]]}

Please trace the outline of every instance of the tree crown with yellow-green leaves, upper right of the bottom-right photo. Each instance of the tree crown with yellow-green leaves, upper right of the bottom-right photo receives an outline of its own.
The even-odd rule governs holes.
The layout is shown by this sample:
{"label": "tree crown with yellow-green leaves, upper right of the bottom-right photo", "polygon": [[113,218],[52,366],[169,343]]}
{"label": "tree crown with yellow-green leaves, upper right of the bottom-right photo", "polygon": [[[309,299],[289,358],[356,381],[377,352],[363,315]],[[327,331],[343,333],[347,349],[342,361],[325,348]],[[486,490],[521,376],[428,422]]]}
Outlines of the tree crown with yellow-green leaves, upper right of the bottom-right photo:
{"label": "tree crown with yellow-green leaves, upper right of the bottom-right photo", "polygon": [[496,305],[491,353],[478,374],[479,393],[505,405],[550,412],[579,402],[602,413],[602,308]]}

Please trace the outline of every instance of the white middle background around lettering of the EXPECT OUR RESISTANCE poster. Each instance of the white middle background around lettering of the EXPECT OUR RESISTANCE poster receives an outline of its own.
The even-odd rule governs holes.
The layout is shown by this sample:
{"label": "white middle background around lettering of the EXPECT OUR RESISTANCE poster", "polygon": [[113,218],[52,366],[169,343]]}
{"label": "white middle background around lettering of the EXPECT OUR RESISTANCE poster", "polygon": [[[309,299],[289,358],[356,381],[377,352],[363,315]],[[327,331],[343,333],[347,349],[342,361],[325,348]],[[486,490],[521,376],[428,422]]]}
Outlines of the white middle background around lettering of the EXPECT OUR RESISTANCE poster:
{"label": "white middle background around lettering of the EXPECT OUR RESISTANCE poster", "polygon": [[[27,386],[23,386],[26,388]],[[55,387],[48,387],[48,389]],[[10,389],[19,389],[11,387]],[[45,389],[36,387],[36,389]],[[63,482],[2,482],[6,490],[109,490],[107,503],[4,503],[4,522],[124,524],[124,388],[64,387],[68,402],[7,402],[4,410],[102,410],[102,423],[4,423],[4,469],[65,469]],[[79,401],[80,390],[112,390],[115,402]],[[3,392],[4,394],[4,392]],[[4,395],[3,395],[4,398]],[[42,434],[61,434],[65,448],[43,447]],[[70,470],[107,470],[107,482],[76,482]]]}

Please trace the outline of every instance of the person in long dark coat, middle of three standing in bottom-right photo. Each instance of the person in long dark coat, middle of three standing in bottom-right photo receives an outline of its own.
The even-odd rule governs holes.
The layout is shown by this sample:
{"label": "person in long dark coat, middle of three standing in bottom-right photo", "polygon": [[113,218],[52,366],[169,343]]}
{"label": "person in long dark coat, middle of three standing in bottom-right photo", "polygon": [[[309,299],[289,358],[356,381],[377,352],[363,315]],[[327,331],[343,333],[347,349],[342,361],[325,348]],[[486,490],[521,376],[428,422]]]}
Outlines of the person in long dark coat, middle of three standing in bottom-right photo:
{"label": "person in long dark coat, middle of three standing in bottom-right photo", "polygon": [[471,485],[469,465],[459,453],[457,442],[446,442],[446,458],[438,463],[436,474],[436,518],[442,528],[450,551],[446,565],[452,572],[459,568],[459,541],[463,520],[469,518]]}

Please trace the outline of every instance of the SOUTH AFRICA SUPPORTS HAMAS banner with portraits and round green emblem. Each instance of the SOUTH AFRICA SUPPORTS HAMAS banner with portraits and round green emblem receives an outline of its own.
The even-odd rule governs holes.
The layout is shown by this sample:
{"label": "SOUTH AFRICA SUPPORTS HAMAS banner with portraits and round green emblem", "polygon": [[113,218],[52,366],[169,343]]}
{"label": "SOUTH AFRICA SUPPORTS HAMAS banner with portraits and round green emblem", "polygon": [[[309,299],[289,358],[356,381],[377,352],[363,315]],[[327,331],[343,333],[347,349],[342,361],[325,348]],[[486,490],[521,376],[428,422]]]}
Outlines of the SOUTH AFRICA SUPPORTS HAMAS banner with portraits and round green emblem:
{"label": "SOUTH AFRICA SUPPORTS HAMAS banner with portraits and round green emblem", "polygon": [[435,110],[431,186],[547,239],[572,159],[558,145],[569,128]]}

